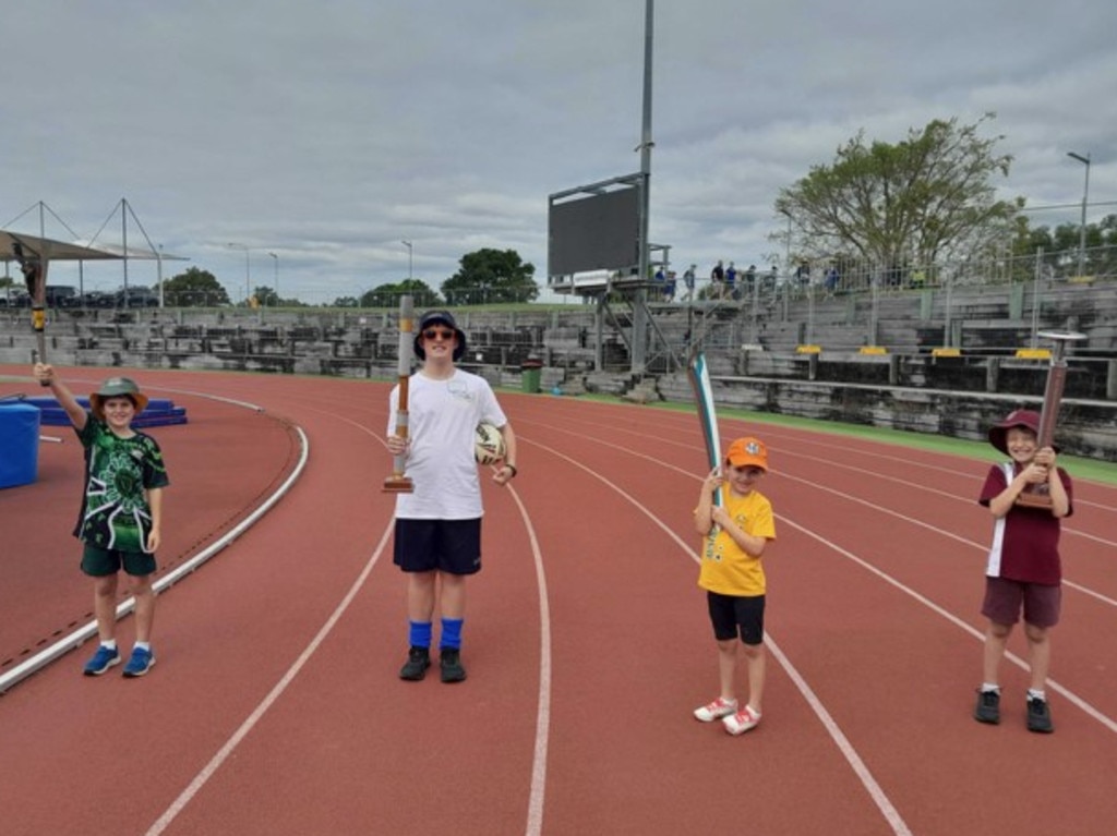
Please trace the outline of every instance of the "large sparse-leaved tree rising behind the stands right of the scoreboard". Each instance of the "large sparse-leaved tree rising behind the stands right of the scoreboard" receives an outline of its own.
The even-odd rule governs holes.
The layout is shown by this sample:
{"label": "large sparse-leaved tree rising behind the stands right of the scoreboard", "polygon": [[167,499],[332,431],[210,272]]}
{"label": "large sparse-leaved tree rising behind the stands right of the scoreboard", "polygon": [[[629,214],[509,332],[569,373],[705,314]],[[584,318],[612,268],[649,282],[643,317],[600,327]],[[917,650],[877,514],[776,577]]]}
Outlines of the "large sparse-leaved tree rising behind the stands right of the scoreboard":
{"label": "large sparse-leaved tree rising behind the stands right of the scoreboard", "polygon": [[775,209],[794,223],[796,250],[806,257],[846,251],[896,269],[1011,240],[1021,203],[995,200],[992,181],[1008,176],[1012,157],[995,153],[1003,136],[978,136],[992,118],[985,114],[972,125],[936,119],[895,145],[866,144],[859,133],[838,148],[833,164],[780,191]]}

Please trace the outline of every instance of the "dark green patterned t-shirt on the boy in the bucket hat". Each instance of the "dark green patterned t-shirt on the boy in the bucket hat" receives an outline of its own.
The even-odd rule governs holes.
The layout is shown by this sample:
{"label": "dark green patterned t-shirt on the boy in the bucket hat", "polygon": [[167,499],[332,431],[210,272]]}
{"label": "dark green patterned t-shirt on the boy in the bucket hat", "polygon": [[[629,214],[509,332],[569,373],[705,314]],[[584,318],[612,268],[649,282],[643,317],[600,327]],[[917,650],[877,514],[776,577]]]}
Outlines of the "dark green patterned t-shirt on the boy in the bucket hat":
{"label": "dark green patterned t-shirt on the boy in the bucket hat", "polygon": [[159,444],[141,432],[122,439],[92,414],[77,436],[85,448],[85,496],[74,535],[102,549],[146,551],[146,491],[170,484]]}

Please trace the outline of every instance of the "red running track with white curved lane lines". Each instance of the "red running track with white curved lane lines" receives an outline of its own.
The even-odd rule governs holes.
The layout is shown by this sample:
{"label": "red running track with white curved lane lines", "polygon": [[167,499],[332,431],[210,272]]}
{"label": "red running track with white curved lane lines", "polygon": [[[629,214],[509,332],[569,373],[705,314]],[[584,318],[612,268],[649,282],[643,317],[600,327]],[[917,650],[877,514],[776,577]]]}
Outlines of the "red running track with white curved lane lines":
{"label": "red running track with white curved lane lines", "polygon": [[[1057,731],[1035,736],[1011,662],[1002,724],[971,719],[987,465],[724,422],[726,439],[768,442],[779,526],[764,720],[731,738],[690,715],[717,689],[695,585],[693,416],[502,395],[521,477],[486,486],[470,676],[405,683],[380,492],[388,386],[136,374],[266,406],[303,427],[309,462],[161,597],[150,676],[85,679],[78,652],[0,700],[4,833],[1092,836],[1117,817],[1111,487],[1076,483]],[[206,486],[172,490],[171,528]]]}

